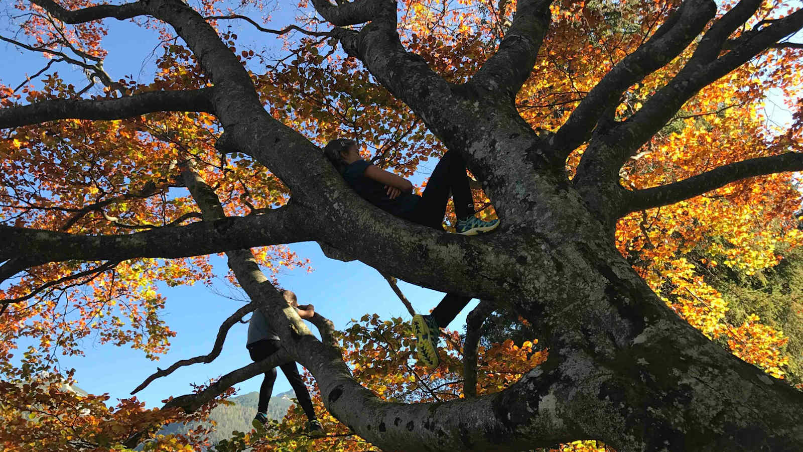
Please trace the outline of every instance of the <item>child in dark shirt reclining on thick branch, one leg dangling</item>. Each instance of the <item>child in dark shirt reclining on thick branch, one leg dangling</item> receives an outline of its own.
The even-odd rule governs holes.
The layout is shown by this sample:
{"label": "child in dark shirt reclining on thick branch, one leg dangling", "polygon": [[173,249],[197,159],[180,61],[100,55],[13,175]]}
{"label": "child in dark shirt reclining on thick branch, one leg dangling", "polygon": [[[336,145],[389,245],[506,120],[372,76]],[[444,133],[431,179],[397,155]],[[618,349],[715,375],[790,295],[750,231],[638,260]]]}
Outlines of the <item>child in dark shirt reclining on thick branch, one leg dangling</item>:
{"label": "child in dark shirt reclining on thick branch, one leg dangling", "polygon": [[[357,150],[357,142],[353,140],[332,140],[324,147],[324,154],[359,195],[394,216],[442,229],[446,202],[451,192],[458,218],[455,225],[457,233],[473,236],[490,232],[499,226],[499,220],[483,221],[475,216],[466,164],[455,152],[443,155],[421,196],[413,194],[413,184],[409,180],[363,160]],[[470,301],[469,297],[446,294],[432,314],[414,315],[413,331],[417,339],[418,360],[426,367],[438,366],[439,328],[445,328]]]}

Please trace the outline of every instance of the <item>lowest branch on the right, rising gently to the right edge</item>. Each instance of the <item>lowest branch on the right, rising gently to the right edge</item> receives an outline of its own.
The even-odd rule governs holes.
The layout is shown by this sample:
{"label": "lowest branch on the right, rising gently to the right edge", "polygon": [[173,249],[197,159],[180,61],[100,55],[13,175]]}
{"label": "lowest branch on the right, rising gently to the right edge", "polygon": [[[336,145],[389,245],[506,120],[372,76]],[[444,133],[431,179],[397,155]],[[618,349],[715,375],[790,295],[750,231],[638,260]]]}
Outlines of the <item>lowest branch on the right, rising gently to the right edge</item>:
{"label": "lowest branch on the right, rising gently to the right edge", "polygon": [[803,171],[803,153],[787,152],[771,157],[751,158],[719,166],[676,183],[633,191],[626,199],[624,214],[677,203],[740,179],[785,171]]}

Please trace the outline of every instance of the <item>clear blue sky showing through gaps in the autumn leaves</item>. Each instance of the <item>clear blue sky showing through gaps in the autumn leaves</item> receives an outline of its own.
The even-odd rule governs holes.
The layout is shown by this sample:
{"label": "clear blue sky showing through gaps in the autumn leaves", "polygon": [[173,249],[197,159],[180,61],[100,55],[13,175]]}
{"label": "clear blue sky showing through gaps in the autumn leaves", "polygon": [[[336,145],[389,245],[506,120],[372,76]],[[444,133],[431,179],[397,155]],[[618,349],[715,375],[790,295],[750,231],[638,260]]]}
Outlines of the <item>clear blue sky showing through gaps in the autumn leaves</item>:
{"label": "clear blue sky showing through gaps in the autumn leaves", "polygon": [[[291,3],[291,2],[286,2]],[[0,14],[10,11],[10,6],[0,7]],[[6,10],[8,8],[9,10]],[[276,10],[270,27],[283,27],[292,23],[296,7],[283,6]],[[6,23],[0,18],[0,26]],[[112,76],[118,79],[122,76],[132,75],[135,80],[149,81],[153,75],[154,55],[151,52],[158,45],[156,35],[129,22],[110,20],[111,30],[104,47],[109,55],[104,66]],[[242,21],[231,21],[232,29],[241,39],[253,39],[255,47],[267,47],[278,50],[280,43],[273,35],[262,34]],[[4,28],[4,27],[2,27]],[[797,39],[800,40],[800,39]],[[0,80],[5,84],[16,85],[24,79],[26,73],[33,73],[43,67],[44,60],[40,55],[21,53],[3,43],[0,50],[6,61],[14,64],[4,64],[0,67]],[[83,86],[85,78],[79,70],[61,64],[59,73],[67,80],[75,80],[76,86]],[[784,123],[789,121],[789,113],[782,108],[782,99],[773,98],[768,103],[768,115],[773,121]],[[421,168],[417,175],[418,180],[426,177],[431,167]],[[390,289],[384,278],[376,270],[360,262],[332,261],[320,252],[317,244],[293,244],[291,249],[300,257],[312,260],[314,271],[307,273],[304,270],[287,270],[279,274],[281,285],[293,290],[304,303],[312,302],[316,310],[330,318],[338,328],[346,327],[352,318],[360,318],[362,314],[378,313],[384,318],[402,316],[408,319],[406,309]],[[226,264],[220,258],[214,258],[214,265],[218,273],[226,271]],[[418,312],[427,312],[434,307],[442,294],[433,290],[422,289],[418,286],[400,283],[407,298],[413,303]],[[225,291],[225,289],[223,289]],[[228,298],[222,298],[201,285],[165,288],[163,294],[168,303],[163,312],[163,318],[174,331],[176,338],[171,340],[170,351],[161,357],[158,362],[145,358],[141,351],[133,351],[125,347],[100,345],[87,340],[84,342],[86,356],[84,358],[69,358],[61,360],[64,368],[75,368],[76,379],[79,386],[93,393],[108,392],[111,402],[117,398],[128,397],[128,392],[145,380],[157,368],[165,368],[176,360],[185,359],[195,355],[206,354],[210,351],[222,320],[228,317],[241,304]],[[455,321],[450,325],[452,329],[462,331],[465,315],[475,306],[472,302]],[[314,327],[312,328],[314,330]],[[230,330],[222,354],[214,363],[196,364],[181,368],[172,375],[154,381],[137,396],[146,402],[147,406],[160,406],[161,400],[170,395],[177,396],[190,392],[190,382],[202,384],[210,378],[230,372],[251,362],[245,349],[247,325],[237,324]],[[259,390],[261,376],[244,381],[237,385],[239,392]],[[287,380],[279,372],[274,392],[284,392],[290,389]]]}

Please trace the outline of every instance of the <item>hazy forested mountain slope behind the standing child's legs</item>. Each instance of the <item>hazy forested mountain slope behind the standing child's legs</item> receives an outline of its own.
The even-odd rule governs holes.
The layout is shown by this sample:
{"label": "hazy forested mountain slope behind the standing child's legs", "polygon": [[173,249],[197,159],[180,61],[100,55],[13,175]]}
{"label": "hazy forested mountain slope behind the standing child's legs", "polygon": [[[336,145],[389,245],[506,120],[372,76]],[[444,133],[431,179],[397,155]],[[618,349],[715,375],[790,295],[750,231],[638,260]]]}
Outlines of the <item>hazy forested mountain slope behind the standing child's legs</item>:
{"label": "hazy forested mountain slope behind the standing child's legs", "polygon": [[[267,416],[271,419],[279,420],[287,413],[287,409],[293,404],[291,397],[296,397],[292,391],[282,392],[275,394],[271,397],[270,403],[267,405]],[[215,431],[209,436],[211,444],[217,444],[218,441],[231,437],[231,432],[234,430],[240,432],[247,432],[251,430],[251,420],[254,419],[256,408],[259,404],[259,392],[248,392],[242,396],[232,397],[229,399],[234,402],[234,405],[218,405],[210,413],[210,420],[215,421]],[[183,424],[168,424],[159,430],[159,434],[177,434],[179,432],[186,432],[194,429],[198,423]]]}

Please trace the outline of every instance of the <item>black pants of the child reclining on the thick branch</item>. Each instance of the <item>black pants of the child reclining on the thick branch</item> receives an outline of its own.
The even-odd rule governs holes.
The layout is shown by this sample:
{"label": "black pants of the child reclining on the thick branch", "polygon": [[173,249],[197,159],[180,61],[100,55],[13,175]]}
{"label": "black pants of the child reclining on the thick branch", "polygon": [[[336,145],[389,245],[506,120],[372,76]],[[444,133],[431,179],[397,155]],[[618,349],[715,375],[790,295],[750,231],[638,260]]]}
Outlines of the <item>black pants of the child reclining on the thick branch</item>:
{"label": "black pants of the child reclining on the thick branch", "polygon": [[[430,181],[426,183],[421,199],[413,211],[406,215],[406,219],[430,228],[442,229],[450,191],[454,213],[458,219],[463,220],[474,215],[474,199],[468,185],[466,163],[456,152],[443,154],[430,175]],[[438,322],[439,327],[445,328],[470,301],[470,297],[446,294],[430,315]]]}

